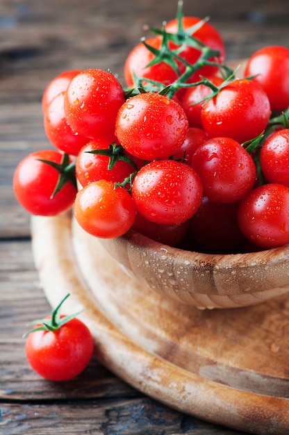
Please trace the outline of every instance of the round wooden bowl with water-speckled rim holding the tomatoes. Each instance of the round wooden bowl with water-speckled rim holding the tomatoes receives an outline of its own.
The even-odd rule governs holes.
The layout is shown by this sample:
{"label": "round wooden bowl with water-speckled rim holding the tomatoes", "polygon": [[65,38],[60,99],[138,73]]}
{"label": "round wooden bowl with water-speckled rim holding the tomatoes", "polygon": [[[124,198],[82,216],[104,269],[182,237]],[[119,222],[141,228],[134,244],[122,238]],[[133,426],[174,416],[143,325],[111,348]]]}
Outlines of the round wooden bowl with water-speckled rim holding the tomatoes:
{"label": "round wooden bowl with water-speckled rim holding the tomatoes", "polygon": [[136,231],[99,240],[144,286],[199,309],[258,304],[289,290],[289,246],[248,254],[201,254]]}

